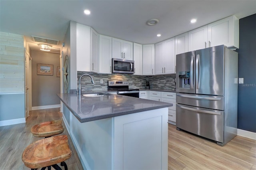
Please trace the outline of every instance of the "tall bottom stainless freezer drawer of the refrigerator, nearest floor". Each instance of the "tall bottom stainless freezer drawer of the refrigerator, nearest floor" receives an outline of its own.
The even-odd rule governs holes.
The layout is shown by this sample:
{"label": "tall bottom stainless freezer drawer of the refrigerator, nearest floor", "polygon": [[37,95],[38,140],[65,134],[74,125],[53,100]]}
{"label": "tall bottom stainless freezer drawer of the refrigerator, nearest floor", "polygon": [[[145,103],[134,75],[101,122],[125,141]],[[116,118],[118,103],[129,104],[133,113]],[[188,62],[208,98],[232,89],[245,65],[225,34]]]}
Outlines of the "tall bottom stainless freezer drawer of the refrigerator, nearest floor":
{"label": "tall bottom stainless freezer drawer of the refrigerator, nearest floor", "polygon": [[224,111],[176,105],[176,127],[224,142]]}

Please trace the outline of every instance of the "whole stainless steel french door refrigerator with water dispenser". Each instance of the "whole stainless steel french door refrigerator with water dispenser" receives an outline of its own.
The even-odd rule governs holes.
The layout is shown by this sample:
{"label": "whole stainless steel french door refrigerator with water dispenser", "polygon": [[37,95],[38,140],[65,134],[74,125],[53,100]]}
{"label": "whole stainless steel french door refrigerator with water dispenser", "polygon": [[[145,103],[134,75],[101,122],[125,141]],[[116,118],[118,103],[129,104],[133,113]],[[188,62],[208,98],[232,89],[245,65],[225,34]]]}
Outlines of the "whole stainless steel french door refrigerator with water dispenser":
{"label": "whole stainless steel french door refrigerator with water dispenser", "polygon": [[176,129],[224,146],[237,134],[238,53],[218,45],[176,55]]}

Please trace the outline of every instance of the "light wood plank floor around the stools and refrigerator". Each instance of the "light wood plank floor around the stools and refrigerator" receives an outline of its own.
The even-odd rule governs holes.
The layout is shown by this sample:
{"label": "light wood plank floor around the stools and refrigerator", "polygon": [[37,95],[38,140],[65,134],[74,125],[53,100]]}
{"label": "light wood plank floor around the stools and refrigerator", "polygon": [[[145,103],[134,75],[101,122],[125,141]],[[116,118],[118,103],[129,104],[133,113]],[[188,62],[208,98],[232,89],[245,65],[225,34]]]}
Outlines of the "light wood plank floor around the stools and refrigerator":
{"label": "light wood plank floor around the stools and refrigerator", "polygon": [[[0,127],[0,170],[29,169],[21,160],[28,144],[39,140],[30,133],[30,128],[44,121],[61,119],[59,109],[44,109],[30,112],[27,123]],[[64,123],[62,122],[62,125]],[[68,132],[65,130],[63,134]],[[83,169],[69,138],[72,157],[65,162],[69,170]],[[168,125],[169,170],[256,170],[256,140],[236,136],[225,146],[176,130]]]}

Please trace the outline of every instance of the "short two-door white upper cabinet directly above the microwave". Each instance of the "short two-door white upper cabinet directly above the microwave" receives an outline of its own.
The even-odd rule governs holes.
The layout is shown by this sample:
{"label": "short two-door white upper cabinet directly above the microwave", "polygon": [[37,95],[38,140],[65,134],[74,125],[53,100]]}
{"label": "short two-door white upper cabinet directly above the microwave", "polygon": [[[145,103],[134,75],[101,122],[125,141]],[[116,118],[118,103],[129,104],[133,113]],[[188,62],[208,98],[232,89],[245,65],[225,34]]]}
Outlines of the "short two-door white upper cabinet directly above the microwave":
{"label": "short two-door white upper cabinet directly above the microwave", "polygon": [[112,38],[112,58],[133,60],[133,43]]}

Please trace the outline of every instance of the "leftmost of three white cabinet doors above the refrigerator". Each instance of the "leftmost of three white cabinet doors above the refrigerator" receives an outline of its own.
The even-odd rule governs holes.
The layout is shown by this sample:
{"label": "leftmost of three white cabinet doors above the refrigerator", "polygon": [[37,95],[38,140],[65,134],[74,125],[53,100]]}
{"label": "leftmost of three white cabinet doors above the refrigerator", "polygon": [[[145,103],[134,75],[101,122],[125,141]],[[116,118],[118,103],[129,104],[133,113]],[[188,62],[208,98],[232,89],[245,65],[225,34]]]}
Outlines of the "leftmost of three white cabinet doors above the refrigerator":
{"label": "leftmost of three white cabinet doors above the refrigerator", "polygon": [[175,37],[175,55],[188,52],[188,32]]}

